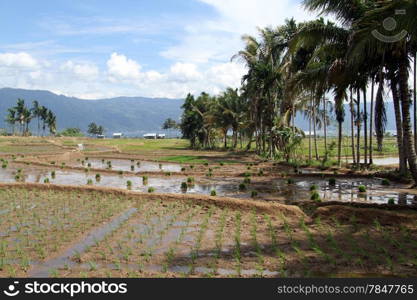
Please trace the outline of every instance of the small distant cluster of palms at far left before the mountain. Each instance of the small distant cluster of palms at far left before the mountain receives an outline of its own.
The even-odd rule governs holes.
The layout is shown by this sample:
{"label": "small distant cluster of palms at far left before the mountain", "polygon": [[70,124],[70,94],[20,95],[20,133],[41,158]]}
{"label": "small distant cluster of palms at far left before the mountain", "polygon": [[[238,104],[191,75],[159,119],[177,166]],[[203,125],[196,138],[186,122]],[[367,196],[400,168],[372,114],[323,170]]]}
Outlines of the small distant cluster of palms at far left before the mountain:
{"label": "small distant cluster of palms at far left before the mountain", "polygon": [[12,134],[16,134],[16,127],[18,133],[22,136],[28,136],[30,122],[36,119],[37,121],[37,135],[45,135],[48,128],[49,133],[56,134],[57,120],[55,114],[45,106],[39,104],[38,101],[32,102],[32,107],[27,107],[24,99],[18,99],[14,107],[7,110],[6,122],[11,126]]}

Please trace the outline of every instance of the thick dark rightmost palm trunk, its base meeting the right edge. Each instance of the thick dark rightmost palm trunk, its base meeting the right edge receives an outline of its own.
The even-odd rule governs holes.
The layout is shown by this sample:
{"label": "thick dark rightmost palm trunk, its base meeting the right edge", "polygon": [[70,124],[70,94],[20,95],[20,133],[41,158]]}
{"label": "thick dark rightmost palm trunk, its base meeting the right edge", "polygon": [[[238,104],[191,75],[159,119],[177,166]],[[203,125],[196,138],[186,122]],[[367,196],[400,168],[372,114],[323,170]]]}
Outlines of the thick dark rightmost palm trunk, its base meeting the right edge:
{"label": "thick dark rightmost palm trunk, its base meeting the right edge", "polygon": [[401,96],[401,108],[403,116],[403,132],[404,132],[404,148],[406,150],[408,165],[410,167],[411,176],[414,183],[417,184],[417,164],[416,164],[416,149],[413,143],[413,134],[411,130],[411,116],[410,116],[410,94],[408,86],[408,68],[407,59],[404,57],[399,64],[399,84]]}

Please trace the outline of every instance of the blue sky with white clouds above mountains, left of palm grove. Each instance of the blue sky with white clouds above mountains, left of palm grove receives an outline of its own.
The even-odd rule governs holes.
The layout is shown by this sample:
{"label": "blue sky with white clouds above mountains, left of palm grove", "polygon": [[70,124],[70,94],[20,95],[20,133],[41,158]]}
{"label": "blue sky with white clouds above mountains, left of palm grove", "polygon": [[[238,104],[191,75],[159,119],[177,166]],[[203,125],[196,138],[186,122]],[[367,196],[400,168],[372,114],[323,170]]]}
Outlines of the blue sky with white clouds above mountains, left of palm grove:
{"label": "blue sky with white clouds above mountains, left of palm grove", "polygon": [[0,88],[83,99],[240,86],[243,34],[313,19],[301,0],[0,1]]}

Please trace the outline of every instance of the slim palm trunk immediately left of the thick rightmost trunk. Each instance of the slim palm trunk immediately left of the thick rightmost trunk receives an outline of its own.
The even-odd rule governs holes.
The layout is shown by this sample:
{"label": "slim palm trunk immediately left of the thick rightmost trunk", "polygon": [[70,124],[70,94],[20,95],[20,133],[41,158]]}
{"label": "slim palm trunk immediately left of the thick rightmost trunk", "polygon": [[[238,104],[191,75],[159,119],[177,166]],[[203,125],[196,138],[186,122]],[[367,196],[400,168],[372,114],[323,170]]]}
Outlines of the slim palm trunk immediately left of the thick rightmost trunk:
{"label": "slim palm trunk immediately left of the thick rightmost trunk", "polygon": [[398,93],[397,81],[395,79],[391,79],[391,91],[394,103],[395,123],[397,127],[397,147],[400,164],[400,174],[405,175],[407,172],[407,157],[404,151],[403,121],[401,116],[400,96]]}

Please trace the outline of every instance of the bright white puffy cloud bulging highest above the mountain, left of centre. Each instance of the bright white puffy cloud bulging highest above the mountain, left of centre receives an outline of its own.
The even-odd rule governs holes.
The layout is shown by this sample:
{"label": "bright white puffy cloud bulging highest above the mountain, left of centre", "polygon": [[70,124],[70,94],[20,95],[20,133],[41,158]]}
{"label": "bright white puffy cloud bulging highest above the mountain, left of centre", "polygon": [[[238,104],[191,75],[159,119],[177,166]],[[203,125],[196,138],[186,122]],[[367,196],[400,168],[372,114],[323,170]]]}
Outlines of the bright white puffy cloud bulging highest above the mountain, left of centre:
{"label": "bright white puffy cloud bulging highest above the mountain, left of centre", "polygon": [[141,66],[126,56],[113,53],[107,61],[108,73],[112,80],[117,79],[138,79]]}

